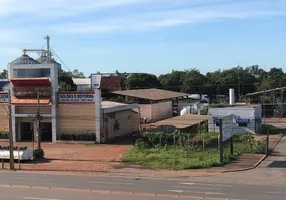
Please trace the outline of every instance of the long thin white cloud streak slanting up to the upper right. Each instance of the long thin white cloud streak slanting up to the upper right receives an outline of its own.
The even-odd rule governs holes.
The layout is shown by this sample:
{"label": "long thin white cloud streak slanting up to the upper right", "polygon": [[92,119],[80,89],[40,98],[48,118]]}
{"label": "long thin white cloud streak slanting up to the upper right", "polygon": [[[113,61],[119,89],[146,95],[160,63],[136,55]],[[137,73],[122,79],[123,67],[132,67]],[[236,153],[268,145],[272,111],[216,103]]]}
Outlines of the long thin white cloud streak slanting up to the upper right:
{"label": "long thin white cloud streak slanting up to the upper right", "polygon": [[[214,0],[213,0],[214,1]],[[259,6],[260,5],[260,6]],[[68,23],[50,27],[63,34],[97,34],[115,31],[147,31],[164,27],[180,26],[190,23],[220,19],[252,19],[285,15],[283,7],[271,9],[265,2],[233,3],[207,5],[195,8],[170,9],[141,13],[121,18],[107,18],[84,23]],[[284,5],[284,4],[283,4]],[[286,4],[284,6],[286,8]],[[279,10],[281,8],[281,10]]]}

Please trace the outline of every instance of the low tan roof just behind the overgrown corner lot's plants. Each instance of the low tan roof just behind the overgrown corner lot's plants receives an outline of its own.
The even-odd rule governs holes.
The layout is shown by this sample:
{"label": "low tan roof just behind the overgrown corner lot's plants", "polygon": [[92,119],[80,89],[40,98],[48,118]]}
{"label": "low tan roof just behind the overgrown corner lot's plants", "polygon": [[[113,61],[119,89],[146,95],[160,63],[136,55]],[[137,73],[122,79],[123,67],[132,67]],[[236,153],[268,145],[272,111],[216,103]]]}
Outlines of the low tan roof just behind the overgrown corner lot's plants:
{"label": "low tan roof just behind the overgrown corner lot's plants", "polygon": [[161,120],[152,125],[162,126],[162,125],[170,125],[175,126],[178,129],[188,128],[192,125],[198,124],[200,122],[212,119],[213,117],[210,115],[194,115],[194,114],[186,114],[180,115],[177,117],[172,117],[169,119]]}

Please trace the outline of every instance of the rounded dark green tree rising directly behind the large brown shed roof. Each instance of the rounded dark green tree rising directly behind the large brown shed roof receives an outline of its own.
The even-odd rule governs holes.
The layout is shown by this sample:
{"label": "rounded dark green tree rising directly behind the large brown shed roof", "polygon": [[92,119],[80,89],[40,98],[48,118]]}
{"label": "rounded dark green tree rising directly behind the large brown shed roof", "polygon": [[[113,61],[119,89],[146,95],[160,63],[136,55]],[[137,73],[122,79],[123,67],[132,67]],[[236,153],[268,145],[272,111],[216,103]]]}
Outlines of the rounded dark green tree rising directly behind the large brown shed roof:
{"label": "rounded dark green tree rising directly behind the large brown shed roof", "polygon": [[160,81],[153,74],[131,74],[126,80],[127,89],[157,88]]}

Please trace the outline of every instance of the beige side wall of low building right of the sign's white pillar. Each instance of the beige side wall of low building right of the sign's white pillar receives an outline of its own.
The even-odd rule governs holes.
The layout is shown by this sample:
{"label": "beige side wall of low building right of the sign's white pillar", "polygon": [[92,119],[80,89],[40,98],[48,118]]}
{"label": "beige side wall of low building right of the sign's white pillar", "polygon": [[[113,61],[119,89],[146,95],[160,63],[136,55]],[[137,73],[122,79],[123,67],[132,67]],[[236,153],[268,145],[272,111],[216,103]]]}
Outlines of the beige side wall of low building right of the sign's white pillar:
{"label": "beige side wall of low building right of the sign's white pillar", "polygon": [[[106,115],[105,115],[106,116]],[[114,131],[115,121],[119,122],[119,130]],[[140,119],[139,114],[132,109],[115,113],[115,118],[108,117],[108,139],[120,137],[139,131]]]}

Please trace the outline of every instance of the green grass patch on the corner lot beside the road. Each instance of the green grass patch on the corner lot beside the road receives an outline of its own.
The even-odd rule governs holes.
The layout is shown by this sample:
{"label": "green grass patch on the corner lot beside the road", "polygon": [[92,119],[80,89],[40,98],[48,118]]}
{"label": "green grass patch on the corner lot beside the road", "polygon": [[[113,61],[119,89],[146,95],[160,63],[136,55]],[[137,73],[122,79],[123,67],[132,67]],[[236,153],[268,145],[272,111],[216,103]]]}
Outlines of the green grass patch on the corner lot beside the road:
{"label": "green grass patch on the corner lot beside the road", "polygon": [[193,149],[188,147],[168,148],[141,148],[132,147],[123,155],[122,161],[129,164],[141,165],[155,169],[199,169],[222,166],[244,153],[263,153],[264,148],[254,145],[251,151],[249,143],[236,141],[234,143],[234,155],[230,156],[229,144],[224,146],[224,163],[220,163],[217,141],[210,142],[205,150],[201,146]]}

